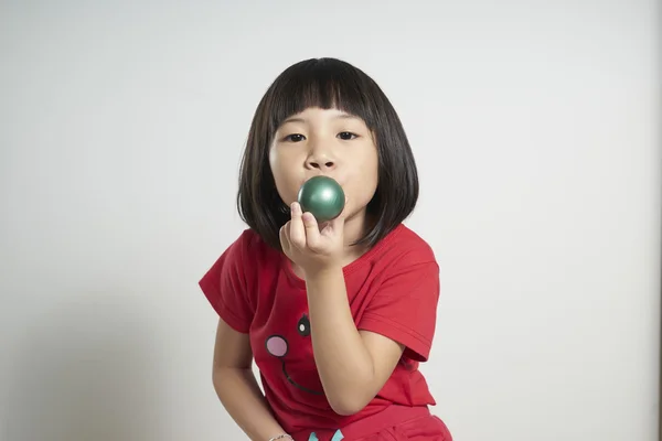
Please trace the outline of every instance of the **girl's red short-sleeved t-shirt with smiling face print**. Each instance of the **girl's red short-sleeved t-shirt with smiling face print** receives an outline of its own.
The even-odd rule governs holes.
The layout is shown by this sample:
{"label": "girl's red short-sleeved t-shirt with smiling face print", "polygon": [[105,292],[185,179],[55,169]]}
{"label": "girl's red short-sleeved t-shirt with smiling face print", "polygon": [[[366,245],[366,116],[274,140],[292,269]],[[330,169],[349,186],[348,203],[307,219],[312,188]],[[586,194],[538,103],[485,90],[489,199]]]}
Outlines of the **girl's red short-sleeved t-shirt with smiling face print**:
{"label": "girl's red short-sleeved t-shirt with smiling face print", "polygon": [[401,224],[343,272],[356,327],[406,346],[382,390],[352,416],[337,415],[323,395],[312,355],[306,282],[285,255],[246,229],[200,281],[218,315],[249,334],[265,396],[288,432],[338,429],[391,404],[435,405],[418,370],[429,355],[439,298],[439,267],[431,248]]}

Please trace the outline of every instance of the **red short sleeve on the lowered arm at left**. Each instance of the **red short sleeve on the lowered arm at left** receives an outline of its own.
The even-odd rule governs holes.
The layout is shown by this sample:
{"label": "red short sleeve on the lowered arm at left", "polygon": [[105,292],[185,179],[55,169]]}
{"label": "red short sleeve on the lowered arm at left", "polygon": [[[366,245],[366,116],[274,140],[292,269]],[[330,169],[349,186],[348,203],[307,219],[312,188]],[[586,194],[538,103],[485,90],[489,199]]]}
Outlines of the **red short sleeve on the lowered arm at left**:
{"label": "red short sleeve on the lowered arm at left", "polygon": [[245,232],[214,262],[200,280],[200,288],[231,327],[248,333],[253,321],[254,308],[248,298],[246,255],[248,234]]}

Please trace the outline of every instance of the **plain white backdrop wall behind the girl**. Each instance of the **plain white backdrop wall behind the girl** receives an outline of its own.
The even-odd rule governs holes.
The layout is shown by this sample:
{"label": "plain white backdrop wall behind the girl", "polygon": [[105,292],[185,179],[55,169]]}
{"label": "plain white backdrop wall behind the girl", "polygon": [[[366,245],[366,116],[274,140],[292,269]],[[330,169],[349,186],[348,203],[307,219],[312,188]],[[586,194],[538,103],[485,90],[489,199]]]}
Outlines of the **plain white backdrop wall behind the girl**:
{"label": "plain white backdrop wall behind the girl", "polygon": [[319,56],[410,138],[456,440],[656,439],[653,0],[0,4],[0,440],[245,439],[196,283],[257,101]]}

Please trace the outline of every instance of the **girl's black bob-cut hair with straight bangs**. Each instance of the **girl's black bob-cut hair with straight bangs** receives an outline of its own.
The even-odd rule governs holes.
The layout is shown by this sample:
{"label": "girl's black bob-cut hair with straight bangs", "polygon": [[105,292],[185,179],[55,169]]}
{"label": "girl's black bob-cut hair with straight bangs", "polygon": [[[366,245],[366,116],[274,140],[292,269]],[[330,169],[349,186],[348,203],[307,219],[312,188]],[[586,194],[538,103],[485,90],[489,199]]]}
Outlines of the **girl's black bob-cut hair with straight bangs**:
{"label": "girl's black bob-cut hair with straight bangs", "polygon": [[255,111],[239,170],[239,217],[267,244],[281,249],[278,232],[290,219],[269,165],[269,148],[279,126],[307,108],[337,108],[363,119],[374,133],[377,187],[367,204],[372,223],[356,244],[374,246],[405,218],[418,200],[418,172],[393,105],[363,71],[337,58],[311,58],[285,69]]}

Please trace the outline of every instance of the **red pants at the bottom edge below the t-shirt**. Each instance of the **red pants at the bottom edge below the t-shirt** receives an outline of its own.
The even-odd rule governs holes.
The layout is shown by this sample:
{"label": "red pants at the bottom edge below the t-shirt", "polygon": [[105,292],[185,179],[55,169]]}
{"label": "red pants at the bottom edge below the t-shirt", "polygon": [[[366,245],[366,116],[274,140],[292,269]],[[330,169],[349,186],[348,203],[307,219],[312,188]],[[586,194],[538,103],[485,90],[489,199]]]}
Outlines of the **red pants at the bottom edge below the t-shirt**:
{"label": "red pants at the bottom edge below the t-shirt", "polygon": [[391,406],[339,430],[292,433],[295,441],[452,441],[427,407]]}

